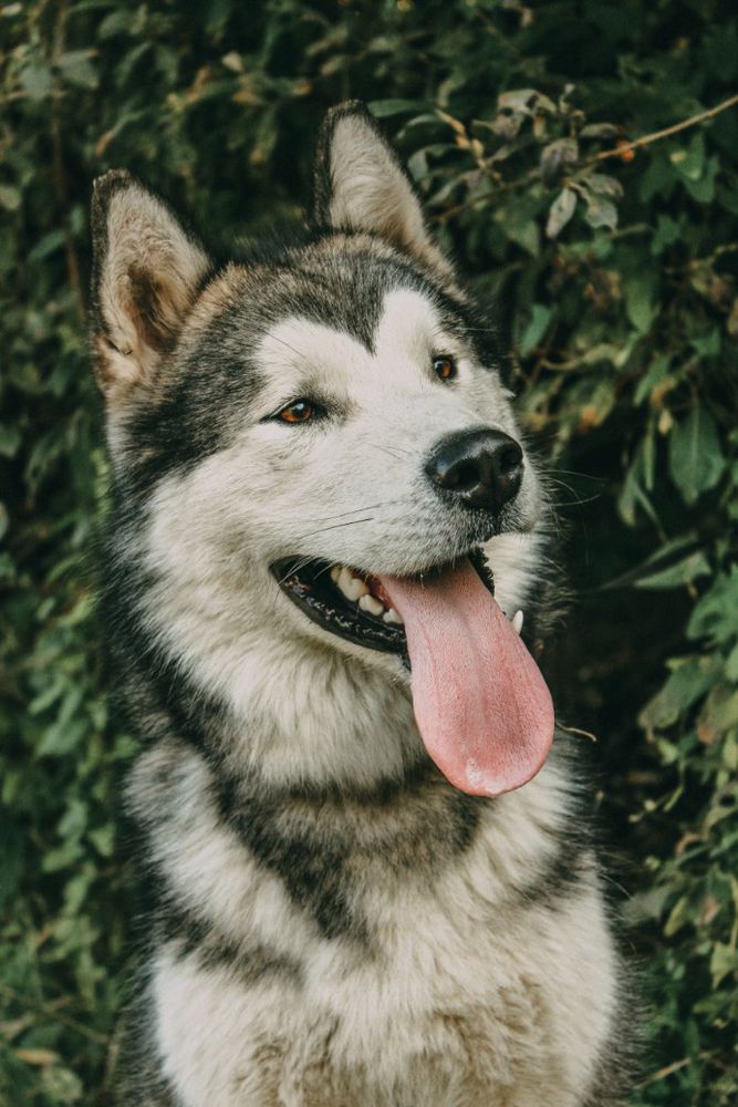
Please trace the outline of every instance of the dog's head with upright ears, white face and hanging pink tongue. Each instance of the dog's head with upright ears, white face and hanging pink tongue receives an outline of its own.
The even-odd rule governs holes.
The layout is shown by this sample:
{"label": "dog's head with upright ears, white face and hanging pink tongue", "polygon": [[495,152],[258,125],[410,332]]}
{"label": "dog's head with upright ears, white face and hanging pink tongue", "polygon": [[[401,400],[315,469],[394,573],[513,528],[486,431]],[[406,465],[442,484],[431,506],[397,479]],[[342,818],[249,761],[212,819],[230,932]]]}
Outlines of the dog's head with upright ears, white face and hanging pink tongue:
{"label": "dog's head with upright ears, white face and hanging pink tongue", "polygon": [[395,681],[409,662],[446,775],[524,783],[550,699],[502,609],[526,602],[540,484],[489,325],[371,117],[329,115],[299,245],[216,263],[125,173],[93,229],[108,444],[163,645],[194,670],[288,641]]}

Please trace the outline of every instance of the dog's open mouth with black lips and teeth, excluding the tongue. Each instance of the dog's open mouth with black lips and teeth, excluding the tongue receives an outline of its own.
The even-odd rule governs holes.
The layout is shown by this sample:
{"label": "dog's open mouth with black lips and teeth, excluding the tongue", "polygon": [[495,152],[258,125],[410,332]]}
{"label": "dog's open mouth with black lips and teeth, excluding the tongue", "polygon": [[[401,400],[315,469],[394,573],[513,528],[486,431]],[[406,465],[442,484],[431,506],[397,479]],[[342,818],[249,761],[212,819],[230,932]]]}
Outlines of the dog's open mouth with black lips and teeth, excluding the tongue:
{"label": "dog's open mouth with black lips and teeth, excluding the tongue", "polygon": [[[481,549],[470,550],[466,559],[493,596],[492,571]],[[435,566],[415,579],[432,580],[449,568]],[[349,642],[396,653],[407,661],[405,624],[376,577],[345,565],[318,559],[305,562],[299,557],[281,558],[270,569],[282,591],[319,627]]]}

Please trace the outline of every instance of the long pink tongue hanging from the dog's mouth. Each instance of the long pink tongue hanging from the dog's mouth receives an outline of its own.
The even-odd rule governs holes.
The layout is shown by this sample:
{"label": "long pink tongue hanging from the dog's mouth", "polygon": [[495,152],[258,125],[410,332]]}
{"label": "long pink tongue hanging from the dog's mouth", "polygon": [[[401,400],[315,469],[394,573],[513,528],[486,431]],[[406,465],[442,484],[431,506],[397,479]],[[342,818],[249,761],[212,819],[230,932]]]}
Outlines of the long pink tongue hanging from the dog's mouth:
{"label": "long pink tongue hanging from the dog's mouth", "polygon": [[415,718],[444,776],[475,796],[526,784],[551,747],[551,693],[470,562],[423,583],[380,580],[405,621]]}

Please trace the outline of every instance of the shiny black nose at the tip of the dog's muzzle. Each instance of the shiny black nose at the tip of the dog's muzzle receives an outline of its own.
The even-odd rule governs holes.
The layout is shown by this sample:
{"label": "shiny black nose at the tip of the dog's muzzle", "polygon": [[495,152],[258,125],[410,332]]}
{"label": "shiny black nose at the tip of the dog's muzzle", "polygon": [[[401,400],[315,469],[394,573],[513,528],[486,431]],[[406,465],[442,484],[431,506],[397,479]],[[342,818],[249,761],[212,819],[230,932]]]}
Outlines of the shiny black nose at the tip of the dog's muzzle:
{"label": "shiny black nose at the tip of the dog's muzzle", "polygon": [[522,449],[502,431],[466,431],[441,439],[425,470],[464,507],[497,514],[520,490]]}

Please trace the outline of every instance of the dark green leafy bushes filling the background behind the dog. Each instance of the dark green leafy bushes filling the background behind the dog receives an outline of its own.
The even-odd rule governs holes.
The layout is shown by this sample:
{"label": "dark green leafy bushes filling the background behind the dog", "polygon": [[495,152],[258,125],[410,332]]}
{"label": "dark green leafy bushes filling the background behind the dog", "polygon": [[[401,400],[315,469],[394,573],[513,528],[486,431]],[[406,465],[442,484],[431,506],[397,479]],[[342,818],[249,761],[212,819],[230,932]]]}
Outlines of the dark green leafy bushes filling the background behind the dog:
{"label": "dark green leafy bushes filling the background behind the dog", "polygon": [[628,145],[735,96],[735,6],[32,0],[0,6],[0,1100],[107,1103],[125,993],[91,182],[127,166],[252,235],[299,216],[323,111],[358,96],[497,300],[553,467],[576,603],[548,669],[600,736],[649,1005],[633,1103],[735,1103],[738,110]]}

